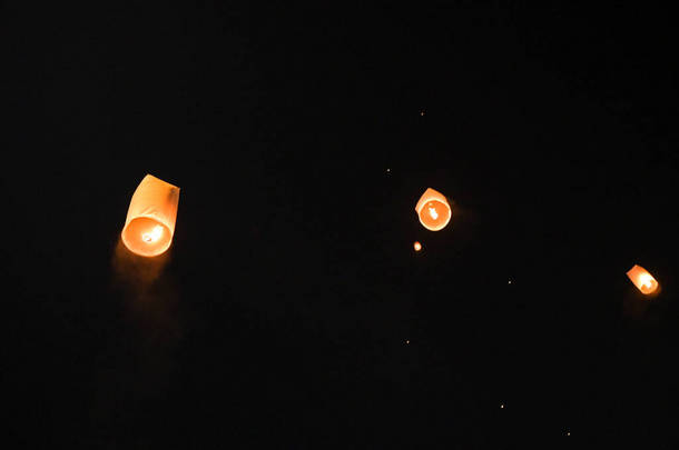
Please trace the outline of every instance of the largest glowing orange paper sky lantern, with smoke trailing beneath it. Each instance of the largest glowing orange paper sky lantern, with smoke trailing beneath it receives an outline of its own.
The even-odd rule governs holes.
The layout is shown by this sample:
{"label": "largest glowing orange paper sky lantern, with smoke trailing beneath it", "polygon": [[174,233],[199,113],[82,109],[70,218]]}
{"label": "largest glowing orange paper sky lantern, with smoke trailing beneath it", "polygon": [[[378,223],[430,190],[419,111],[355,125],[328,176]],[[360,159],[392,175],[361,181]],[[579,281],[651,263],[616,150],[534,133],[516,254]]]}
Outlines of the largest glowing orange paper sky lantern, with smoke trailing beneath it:
{"label": "largest glowing orange paper sky lantern, with smoke trailing beneath it", "polygon": [[122,242],[131,252],[156,257],[173,242],[179,188],[147,174],[132,194],[122,228]]}

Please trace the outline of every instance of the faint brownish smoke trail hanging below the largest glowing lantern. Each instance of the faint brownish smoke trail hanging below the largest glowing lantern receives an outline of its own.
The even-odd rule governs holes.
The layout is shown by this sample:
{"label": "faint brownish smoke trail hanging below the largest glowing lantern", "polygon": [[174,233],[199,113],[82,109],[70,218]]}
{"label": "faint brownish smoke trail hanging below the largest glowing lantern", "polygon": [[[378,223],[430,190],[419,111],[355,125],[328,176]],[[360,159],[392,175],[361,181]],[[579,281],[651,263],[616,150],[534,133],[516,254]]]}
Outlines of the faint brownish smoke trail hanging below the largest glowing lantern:
{"label": "faint brownish smoke trail hanging below the largest glowing lantern", "polygon": [[111,293],[122,316],[111,318],[115,332],[101,356],[90,411],[104,434],[136,426],[125,412],[164,401],[176,382],[184,326],[178,288],[165,271],[170,253],[139,257],[121,240],[114,250]]}

